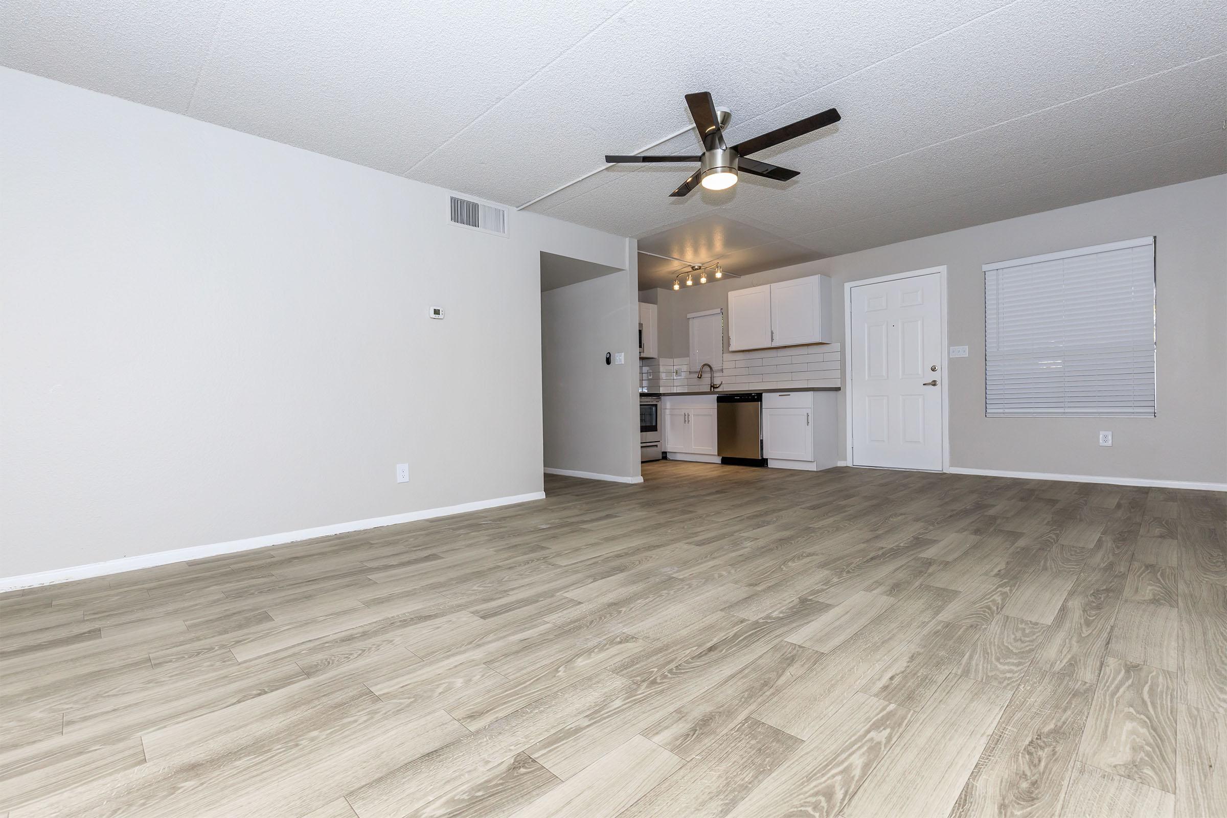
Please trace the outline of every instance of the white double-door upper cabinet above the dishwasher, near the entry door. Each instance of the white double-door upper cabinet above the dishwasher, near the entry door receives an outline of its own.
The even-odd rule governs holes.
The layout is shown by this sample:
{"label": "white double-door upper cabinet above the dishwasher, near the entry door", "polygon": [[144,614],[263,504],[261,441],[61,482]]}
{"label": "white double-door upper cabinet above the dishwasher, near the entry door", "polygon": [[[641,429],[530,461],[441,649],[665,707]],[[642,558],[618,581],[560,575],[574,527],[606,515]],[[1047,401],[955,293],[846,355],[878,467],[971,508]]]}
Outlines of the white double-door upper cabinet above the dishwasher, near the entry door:
{"label": "white double-door upper cabinet above the dishwasher, near the entry door", "polygon": [[729,350],[831,342],[831,278],[806,276],[729,293]]}

